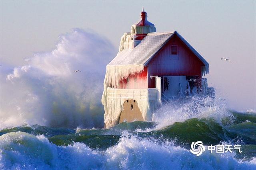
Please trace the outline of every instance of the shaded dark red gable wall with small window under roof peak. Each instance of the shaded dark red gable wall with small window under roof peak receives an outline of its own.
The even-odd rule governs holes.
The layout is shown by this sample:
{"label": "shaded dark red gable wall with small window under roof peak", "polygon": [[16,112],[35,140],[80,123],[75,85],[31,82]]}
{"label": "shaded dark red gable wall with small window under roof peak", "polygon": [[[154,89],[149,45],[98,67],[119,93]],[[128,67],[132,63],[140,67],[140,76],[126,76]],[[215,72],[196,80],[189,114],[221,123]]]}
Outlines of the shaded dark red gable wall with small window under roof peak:
{"label": "shaded dark red gable wall with small window under roof peak", "polygon": [[[178,57],[171,55],[171,46],[178,46]],[[175,35],[148,64],[148,88],[155,88],[150,76],[200,76],[204,64]]]}

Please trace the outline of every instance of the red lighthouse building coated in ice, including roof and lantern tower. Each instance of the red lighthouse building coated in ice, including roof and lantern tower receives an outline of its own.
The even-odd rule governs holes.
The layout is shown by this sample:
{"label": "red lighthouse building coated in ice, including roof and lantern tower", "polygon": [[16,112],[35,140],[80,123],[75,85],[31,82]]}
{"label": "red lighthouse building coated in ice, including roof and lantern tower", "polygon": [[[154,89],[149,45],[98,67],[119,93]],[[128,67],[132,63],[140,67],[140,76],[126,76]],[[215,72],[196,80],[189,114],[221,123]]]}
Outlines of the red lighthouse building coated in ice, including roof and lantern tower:
{"label": "red lighthouse building coated in ice, including roof and lantern tower", "polygon": [[156,32],[142,10],[131,32],[121,37],[119,52],[106,66],[105,127],[122,121],[150,121],[162,102],[207,93],[209,64],[177,32]]}

